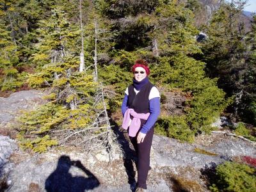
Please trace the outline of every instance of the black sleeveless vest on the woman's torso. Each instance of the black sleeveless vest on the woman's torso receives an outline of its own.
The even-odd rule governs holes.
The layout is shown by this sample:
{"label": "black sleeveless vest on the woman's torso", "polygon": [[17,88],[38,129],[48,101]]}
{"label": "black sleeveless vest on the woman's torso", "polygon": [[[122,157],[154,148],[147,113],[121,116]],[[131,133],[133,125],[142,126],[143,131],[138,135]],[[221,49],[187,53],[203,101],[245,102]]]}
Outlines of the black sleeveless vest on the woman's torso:
{"label": "black sleeveless vest on the woman's torso", "polygon": [[150,82],[141,88],[140,92],[134,92],[134,86],[128,87],[128,107],[134,109],[136,113],[149,113],[149,93],[154,85]]}

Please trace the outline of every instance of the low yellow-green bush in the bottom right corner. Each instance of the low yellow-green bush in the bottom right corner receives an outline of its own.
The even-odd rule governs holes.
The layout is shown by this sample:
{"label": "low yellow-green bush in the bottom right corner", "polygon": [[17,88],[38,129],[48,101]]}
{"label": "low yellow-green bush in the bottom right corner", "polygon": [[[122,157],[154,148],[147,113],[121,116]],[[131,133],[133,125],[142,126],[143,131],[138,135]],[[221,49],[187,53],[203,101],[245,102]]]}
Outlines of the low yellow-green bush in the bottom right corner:
{"label": "low yellow-green bush in the bottom right corner", "polygon": [[225,162],[216,168],[216,180],[211,191],[256,191],[256,170],[246,164]]}

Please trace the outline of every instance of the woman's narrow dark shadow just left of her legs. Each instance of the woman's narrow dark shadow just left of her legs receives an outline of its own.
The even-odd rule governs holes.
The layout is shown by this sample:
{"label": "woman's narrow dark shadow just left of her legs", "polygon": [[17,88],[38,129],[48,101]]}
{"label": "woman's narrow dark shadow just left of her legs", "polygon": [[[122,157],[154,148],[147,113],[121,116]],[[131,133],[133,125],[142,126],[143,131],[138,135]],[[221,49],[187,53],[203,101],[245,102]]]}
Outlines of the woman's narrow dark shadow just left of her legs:
{"label": "woman's narrow dark shadow just left of her legs", "polygon": [[[136,180],[135,180],[135,172],[134,172],[134,163],[137,162],[136,159],[136,153],[134,150],[130,148],[129,145],[129,136],[127,132],[121,132],[119,130],[118,125],[116,124],[115,121],[111,120],[111,125],[115,125],[113,128],[113,131],[116,134],[116,138],[118,140],[118,143],[120,144],[120,147],[122,148],[122,151],[124,152],[124,167],[125,167],[125,172],[127,173],[128,176],[128,183],[130,184],[130,188],[132,191],[135,191],[136,189]],[[127,135],[127,138],[125,138],[125,135]]]}

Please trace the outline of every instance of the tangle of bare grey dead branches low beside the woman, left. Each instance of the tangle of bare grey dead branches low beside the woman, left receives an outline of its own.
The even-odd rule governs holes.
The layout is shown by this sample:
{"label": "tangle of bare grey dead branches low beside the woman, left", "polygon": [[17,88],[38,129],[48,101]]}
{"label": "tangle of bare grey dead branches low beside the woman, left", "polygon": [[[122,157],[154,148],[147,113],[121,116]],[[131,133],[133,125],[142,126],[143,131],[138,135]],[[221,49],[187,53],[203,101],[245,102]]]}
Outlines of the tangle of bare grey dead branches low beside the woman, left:
{"label": "tangle of bare grey dead branches low beside the woman, left", "polygon": [[[99,106],[102,106],[99,109]],[[104,88],[101,85],[95,94],[94,111],[97,115],[87,127],[80,129],[53,130],[51,134],[59,138],[60,145],[74,145],[83,148],[84,151],[99,150],[105,148],[109,152],[120,150],[115,143],[115,134],[109,122],[106,102],[104,100]]]}

